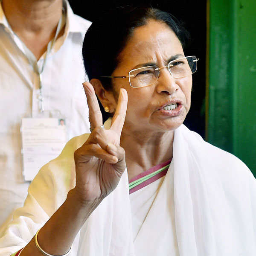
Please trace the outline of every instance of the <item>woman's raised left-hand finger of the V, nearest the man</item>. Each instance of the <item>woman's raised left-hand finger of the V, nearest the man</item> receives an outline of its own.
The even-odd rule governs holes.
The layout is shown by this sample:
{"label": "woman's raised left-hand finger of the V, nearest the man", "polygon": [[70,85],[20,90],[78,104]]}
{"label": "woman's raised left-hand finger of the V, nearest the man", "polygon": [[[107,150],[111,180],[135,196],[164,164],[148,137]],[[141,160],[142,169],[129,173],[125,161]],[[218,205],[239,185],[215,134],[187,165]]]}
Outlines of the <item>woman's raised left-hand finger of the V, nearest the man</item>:
{"label": "woman's raised left-hand finger of the V, nearest the man", "polygon": [[89,82],[83,83],[84,92],[87,98],[89,108],[90,128],[102,126],[102,113],[99,108],[99,102],[95,94],[93,86]]}

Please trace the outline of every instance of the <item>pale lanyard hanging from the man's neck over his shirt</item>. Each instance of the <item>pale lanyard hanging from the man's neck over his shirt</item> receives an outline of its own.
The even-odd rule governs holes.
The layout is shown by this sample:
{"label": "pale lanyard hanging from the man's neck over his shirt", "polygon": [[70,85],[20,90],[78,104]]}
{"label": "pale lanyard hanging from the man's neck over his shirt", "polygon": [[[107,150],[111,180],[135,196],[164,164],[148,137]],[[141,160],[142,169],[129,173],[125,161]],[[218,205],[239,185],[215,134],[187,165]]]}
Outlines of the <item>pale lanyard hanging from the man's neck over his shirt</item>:
{"label": "pale lanyard hanging from the man's neck over his shirt", "polygon": [[37,62],[37,59],[35,58],[35,55],[26,47],[26,45],[22,41],[20,41],[23,46],[23,49],[25,51],[25,55],[29,60],[30,65],[32,66],[35,73],[38,74],[38,79],[39,79],[38,101],[39,101],[39,109],[40,109],[41,113],[44,112],[44,99],[42,96],[42,73],[44,71],[44,67],[46,65],[46,61],[47,61],[47,57],[49,56],[49,52],[51,52],[51,50],[54,46],[54,43],[55,43],[56,39],[58,38],[58,34],[61,31],[61,29],[64,27],[65,23],[66,23],[66,13],[65,13],[65,11],[63,11],[61,18],[58,21],[58,26],[57,26],[57,30],[55,33],[55,37],[51,41],[49,41],[49,43],[47,45],[47,51],[46,51],[46,55],[45,55],[44,62],[42,64],[41,69],[39,69],[39,67],[38,67],[38,62]]}

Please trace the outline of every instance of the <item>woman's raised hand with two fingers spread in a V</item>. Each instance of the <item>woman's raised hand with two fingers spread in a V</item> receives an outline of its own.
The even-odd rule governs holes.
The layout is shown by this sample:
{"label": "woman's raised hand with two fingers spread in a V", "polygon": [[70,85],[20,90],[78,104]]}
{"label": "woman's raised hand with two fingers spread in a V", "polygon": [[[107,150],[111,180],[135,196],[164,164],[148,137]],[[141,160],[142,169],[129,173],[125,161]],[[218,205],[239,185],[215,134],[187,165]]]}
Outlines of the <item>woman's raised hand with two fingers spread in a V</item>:
{"label": "woman's raised hand with two fingers spread in a V", "polygon": [[83,204],[98,205],[116,188],[125,171],[125,151],[119,144],[128,96],[125,89],[120,90],[111,128],[105,130],[101,128],[102,113],[93,86],[89,82],[83,85],[93,131],[84,145],[74,153],[75,191]]}

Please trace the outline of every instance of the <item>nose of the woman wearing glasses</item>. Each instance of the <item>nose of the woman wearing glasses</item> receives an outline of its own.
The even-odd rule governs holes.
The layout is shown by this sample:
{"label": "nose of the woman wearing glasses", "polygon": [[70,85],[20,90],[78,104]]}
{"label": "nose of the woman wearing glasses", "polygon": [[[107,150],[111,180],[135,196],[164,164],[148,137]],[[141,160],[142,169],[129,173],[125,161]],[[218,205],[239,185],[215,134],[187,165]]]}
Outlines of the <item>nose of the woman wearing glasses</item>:
{"label": "nose of the woman wearing glasses", "polygon": [[171,95],[179,88],[179,85],[177,84],[177,79],[175,79],[170,74],[167,68],[163,68],[160,70],[160,74],[156,83],[157,93],[166,93]]}

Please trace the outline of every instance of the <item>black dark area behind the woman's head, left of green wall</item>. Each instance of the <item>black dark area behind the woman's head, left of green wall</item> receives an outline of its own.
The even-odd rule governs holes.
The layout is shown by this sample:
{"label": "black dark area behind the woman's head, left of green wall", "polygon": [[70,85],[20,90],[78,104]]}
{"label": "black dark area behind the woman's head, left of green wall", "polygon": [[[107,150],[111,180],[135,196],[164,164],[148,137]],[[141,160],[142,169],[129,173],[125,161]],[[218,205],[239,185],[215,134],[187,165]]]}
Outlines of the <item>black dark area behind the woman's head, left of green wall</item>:
{"label": "black dark area behind the woman's head, left of green wall", "polygon": [[[191,42],[185,49],[185,55],[195,55],[200,58],[198,70],[193,74],[192,103],[184,124],[189,129],[205,136],[204,99],[205,99],[205,59],[206,59],[206,0],[180,0],[180,1],[79,1],[70,0],[73,12],[93,22],[102,10],[113,6],[127,4],[137,5],[146,3],[154,8],[169,12],[184,22],[184,27],[191,34]],[[109,28],[115,29],[115,28]],[[102,40],[104,45],[104,39]],[[107,49],[106,49],[107,50]]]}

